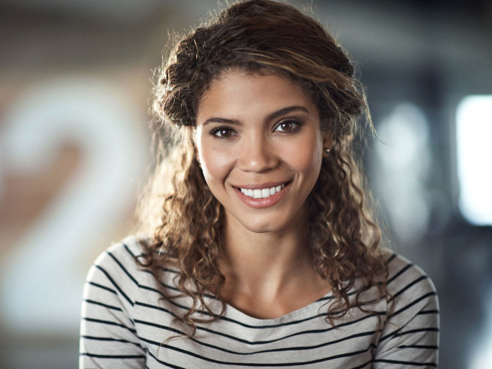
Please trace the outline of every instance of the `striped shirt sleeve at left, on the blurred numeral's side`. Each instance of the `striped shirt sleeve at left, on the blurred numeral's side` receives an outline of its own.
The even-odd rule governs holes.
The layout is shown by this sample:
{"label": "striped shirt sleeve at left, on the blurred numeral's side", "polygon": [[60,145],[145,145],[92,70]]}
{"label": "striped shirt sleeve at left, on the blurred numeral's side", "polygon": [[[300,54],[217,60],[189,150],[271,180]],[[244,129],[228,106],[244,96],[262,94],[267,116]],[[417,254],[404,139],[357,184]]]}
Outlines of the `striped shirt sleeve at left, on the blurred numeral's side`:
{"label": "striped shirt sleeve at left, on the blurred numeral's side", "polygon": [[[103,252],[84,286],[80,327],[80,369],[145,368],[145,350],[131,318],[137,291],[122,244]],[[135,266],[133,266],[135,269]]]}

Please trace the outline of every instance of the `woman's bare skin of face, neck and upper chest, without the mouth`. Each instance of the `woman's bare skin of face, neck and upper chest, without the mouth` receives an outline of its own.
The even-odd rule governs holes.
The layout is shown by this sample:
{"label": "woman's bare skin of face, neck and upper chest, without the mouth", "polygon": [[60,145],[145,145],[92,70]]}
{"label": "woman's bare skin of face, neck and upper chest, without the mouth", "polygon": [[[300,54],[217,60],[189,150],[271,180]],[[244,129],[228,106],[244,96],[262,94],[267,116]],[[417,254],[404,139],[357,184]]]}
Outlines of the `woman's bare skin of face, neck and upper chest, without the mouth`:
{"label": "woman's bare skin of face, neck and upper chest, without the mouth", "polygon": [[[277,75],[226,71],[200,100],[192,129],[205,180],[225,210],[221,298],[266,319],[327,294],[307,244],[307,196],[331,132],[321,130],[311,97]],[[233,188],[289,180],[280,202],[263,209],[246,205]]]}

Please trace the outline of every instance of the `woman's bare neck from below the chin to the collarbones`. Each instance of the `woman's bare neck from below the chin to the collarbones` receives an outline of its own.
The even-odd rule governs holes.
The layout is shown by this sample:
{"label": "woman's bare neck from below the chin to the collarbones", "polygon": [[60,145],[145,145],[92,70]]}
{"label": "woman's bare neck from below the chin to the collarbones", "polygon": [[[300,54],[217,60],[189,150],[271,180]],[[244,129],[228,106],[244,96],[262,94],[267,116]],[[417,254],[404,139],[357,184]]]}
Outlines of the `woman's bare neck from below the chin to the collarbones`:
{"label": "woman's bare neck from below the chin to the collarbones", "polygon": [[227,214],[218,260],[226,294],[275,297],[317,280],[307,229],[306,211],[282,230],[264,233],[248,230]]}

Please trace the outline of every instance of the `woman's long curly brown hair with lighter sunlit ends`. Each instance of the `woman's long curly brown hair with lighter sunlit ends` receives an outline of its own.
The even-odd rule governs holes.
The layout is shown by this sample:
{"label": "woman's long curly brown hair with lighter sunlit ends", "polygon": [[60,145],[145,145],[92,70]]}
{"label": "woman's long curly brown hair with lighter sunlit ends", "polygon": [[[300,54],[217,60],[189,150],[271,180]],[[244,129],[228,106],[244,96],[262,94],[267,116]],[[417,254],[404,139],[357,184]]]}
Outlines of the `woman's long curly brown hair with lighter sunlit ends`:
{"label": "woman's long curly brown hair with lighter sunlit ends", "polygon": [[[355,304],[363,311],[371,301],[362,294],[372,287],[376,300],[388,296],[387,251],[373,201],[365,190],[354,138],[366,123],[373,132],[364,86],[337,41],[315,19],[293,6],[270,0],[240,1],[196,28],[171,50],[154,88],[156,166],[137,215],[153,236],[142,244],[142,266],[160,280],[164,266],[179,270],[180,296],[193,304],[178,320],[190,328],[215,314],[205,302],[220,296],[225,277],[217,267],[222,248],[222,205],[208,188],[196,158],[189,129],[195,126],[201,96],[219,73],[232,68],[273,73],[299,84],[318,107],[322,130],[333,132],[331,154],[323,158],[319,178],[308,196],[310,249],[316,270],[332,288],[334,304],[327,322],[351,307],[349,291],[362,280]],[[370,200],[370,201],[369,201]],[[358,285],[357,285],[358,286]],[[165,299],[172,299],[163,288]],[[192,317],[202,311],[210,316]],[[379,315],[378,315],[379,316]]]}

